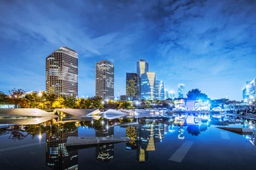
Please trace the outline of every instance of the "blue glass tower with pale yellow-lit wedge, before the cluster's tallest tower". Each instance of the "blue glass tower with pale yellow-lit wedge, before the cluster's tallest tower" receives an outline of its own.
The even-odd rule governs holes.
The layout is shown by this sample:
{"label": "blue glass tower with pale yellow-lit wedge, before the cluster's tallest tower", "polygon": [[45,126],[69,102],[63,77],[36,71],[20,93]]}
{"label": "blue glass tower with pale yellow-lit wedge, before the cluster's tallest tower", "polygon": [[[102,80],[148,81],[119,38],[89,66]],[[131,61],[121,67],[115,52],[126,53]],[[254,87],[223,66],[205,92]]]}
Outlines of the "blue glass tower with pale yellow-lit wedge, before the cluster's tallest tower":
{"label": "blue glass tower with pale yellow-lit wedge, before the cluster's tallest tower", "polygon": [[155,98],[156,74],[154,72],[146,72],[142,74],[141,79],[141,98],[153,100]]}

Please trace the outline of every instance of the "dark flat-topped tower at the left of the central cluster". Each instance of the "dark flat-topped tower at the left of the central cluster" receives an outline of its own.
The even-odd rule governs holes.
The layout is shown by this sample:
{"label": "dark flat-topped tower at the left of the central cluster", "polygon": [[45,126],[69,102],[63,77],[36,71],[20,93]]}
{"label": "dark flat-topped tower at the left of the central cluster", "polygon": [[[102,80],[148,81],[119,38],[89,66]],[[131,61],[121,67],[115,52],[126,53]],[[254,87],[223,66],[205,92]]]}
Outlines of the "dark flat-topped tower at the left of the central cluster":
{"label": "dark flat-topped tower at the left of the central cluster", "polygon": [[126,96],[131,100],[139,99],[139,75],[137,73],[126,74]]}

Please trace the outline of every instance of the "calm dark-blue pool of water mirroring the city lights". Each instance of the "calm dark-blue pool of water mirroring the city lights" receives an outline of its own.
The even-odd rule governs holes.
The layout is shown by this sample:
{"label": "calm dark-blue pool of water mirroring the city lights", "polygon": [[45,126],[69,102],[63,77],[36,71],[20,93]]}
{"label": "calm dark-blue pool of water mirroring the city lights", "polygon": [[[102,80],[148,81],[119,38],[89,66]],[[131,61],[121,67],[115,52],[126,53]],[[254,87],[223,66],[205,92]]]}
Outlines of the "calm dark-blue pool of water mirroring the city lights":
{"label": "calm dark-blue pool of water mirroring the city lights", "polygon": [[[199,118],[200,117],[200,118]],[[202,120],[203,118],[203,120]],[[184,121],[187,120],[187,121]],[[194,121],[193,121],[194,120]],[[129,125],[130,121],[139,125]],[[203,123],[202,123],[203,122]],[[126,123],[119,126],[118,123]],[[255,169],[255,135],[218,126],[254,128],[230,116],[139,118],[0,129],[1,169]],[[66,147],[68,136],[130,137],[97,147]]]}

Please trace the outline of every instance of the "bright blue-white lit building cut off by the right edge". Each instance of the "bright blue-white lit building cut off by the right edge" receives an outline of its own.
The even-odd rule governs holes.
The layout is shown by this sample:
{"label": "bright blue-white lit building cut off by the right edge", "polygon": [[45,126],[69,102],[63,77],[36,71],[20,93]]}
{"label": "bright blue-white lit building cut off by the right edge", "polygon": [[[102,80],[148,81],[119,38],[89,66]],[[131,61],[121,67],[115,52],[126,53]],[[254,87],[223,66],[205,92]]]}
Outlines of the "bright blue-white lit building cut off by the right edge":
{"label": "bright blue-white lit building cut off by the right edge", "polygon": [[242,99],[255,99],[256,98],[256,79],[246,81],[245,87],[242,89]]}

